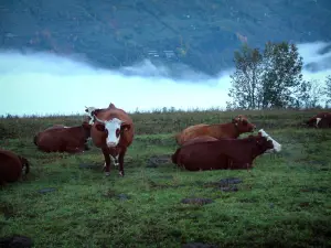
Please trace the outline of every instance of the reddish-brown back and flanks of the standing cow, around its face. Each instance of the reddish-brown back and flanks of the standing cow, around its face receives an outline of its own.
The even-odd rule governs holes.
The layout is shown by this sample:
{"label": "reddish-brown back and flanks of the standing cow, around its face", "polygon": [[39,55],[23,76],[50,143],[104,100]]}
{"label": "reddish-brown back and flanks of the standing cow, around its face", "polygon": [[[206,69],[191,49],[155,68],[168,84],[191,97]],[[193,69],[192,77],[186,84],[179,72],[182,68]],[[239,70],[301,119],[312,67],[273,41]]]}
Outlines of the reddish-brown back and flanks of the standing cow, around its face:
{"label": "reddish-brown back and flanks of the standing cow, around its face", "polygon": [[[98,119],[102,120],[109,120],[113,118],[118,118],[125,121],[127,125],[130,125],[130,129],[125,131],[120,138],[120,145],[128,147],[132,143],[134,136],[135,136],[135,126],[131,117],[124,111],[122,109],[116,108],[115,106],[109,106],[107,109],[103,109],[97,114]],[[95,127],[96,122],[90,128],[90,138],[93,143],[97,148],[103,148],[106,143],[106,133],[100,132]]]}

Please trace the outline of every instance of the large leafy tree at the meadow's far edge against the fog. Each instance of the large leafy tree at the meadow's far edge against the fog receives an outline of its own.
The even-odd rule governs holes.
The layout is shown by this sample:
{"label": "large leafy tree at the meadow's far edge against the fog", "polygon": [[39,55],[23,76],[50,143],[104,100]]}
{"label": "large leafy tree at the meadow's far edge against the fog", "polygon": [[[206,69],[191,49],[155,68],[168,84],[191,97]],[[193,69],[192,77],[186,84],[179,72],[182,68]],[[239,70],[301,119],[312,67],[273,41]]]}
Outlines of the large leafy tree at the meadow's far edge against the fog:
{"label": "large leafy tree at the meadow's far edge against the fog", "polygon": [[295,44],[267,42],[263,53],[245,44],[235,52],[234,62],[228,107],[260,109],[298,104],[302,95],[302,57]]}

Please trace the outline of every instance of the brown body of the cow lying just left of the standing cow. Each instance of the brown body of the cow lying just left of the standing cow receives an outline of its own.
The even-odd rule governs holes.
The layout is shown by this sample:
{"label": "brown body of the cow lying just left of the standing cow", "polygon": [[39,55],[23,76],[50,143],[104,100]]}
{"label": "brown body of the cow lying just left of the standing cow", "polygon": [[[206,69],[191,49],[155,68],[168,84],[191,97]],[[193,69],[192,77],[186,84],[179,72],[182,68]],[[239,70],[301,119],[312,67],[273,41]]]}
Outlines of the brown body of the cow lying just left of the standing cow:
{"label": "brown body of the cow lying just left of the standing cow", "polygon": [[86,121],[74,127],[56,125],[39,132],[33,142],[44,152],[83,152],[88,150],[86,142],[90,137],[90,127]]}

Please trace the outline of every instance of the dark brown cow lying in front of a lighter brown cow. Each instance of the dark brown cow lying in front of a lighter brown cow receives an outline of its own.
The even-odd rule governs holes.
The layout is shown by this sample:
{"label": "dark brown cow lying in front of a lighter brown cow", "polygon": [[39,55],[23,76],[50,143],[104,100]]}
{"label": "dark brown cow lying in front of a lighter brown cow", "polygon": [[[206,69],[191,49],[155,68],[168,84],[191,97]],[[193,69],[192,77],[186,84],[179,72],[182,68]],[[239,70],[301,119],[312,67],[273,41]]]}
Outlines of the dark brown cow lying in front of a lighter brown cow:
{"label": "dark brown cow lying in front of a lighter brown cow", "polygon": [[256,157],[274,149],[271,140],[258,136],[244,139],[202,141],[179,148],[172,163],[189,171],[250,169]]}

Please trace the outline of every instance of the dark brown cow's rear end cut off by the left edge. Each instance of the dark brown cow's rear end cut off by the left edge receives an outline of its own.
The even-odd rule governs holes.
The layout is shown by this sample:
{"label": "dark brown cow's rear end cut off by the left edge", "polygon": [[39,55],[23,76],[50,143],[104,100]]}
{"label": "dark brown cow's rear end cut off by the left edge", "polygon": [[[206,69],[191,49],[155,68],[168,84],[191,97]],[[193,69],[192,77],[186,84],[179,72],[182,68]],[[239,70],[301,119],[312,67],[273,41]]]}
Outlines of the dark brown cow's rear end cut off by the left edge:
{"label": "dark brown cow's rear end cut off by the left edge", "polygon": [[18,181],[22,171],[30,171],[29,161],[12,151],[0,149],[0,185]]}

